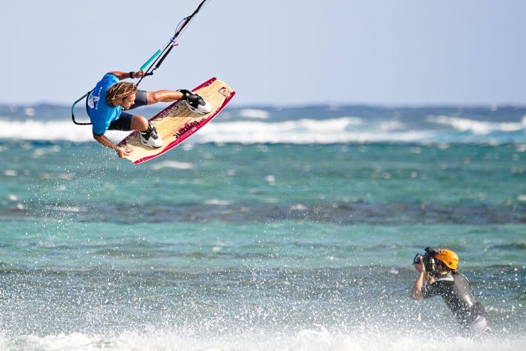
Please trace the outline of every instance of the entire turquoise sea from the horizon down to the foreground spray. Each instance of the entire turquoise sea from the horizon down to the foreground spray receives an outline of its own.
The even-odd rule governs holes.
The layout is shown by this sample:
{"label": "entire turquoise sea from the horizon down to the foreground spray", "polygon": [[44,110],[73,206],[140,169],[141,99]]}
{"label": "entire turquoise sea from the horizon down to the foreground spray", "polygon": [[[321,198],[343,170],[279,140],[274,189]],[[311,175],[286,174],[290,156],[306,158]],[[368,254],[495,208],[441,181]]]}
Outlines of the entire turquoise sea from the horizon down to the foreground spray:
{"label": "entire turquoise sea from the horizon down to the foreground spray", "polygon": [[[520,350],[524,116],[230,108],[135,166],[67,107],[0,106],[0,349]],[[426,246],[492,337],[409,298]]]}

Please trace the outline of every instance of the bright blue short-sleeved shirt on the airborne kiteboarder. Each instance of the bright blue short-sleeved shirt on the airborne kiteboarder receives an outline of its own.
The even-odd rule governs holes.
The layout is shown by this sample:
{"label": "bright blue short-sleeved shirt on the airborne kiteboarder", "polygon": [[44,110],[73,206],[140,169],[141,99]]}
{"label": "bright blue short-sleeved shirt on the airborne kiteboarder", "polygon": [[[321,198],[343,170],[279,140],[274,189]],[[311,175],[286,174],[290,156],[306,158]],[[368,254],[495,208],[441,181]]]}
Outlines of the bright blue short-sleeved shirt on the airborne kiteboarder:
{"label": "bright blue short-sleeved shirt on the airborne kiteboarder", "polygon": [[113,74],[105,74],[88,97],[88,116],[93,124],[93,134],[103,135],[109,124],[120,117],[122,106],[109,107],[106,104],[106,91],[119,79]]}

